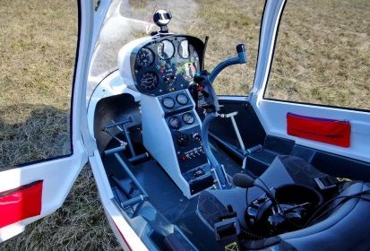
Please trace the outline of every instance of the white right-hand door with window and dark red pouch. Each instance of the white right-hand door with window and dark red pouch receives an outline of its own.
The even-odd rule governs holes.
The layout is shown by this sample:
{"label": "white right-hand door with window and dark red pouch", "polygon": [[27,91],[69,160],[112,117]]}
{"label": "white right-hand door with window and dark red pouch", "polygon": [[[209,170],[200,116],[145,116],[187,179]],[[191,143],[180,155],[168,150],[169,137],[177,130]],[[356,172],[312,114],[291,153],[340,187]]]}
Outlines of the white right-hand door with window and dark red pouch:
{"label": "white right-hand door with window and dark red pouch", "polygon": [[[366,11],[358,13],[347,1],[301,6],[280,0],[267,1],[264,13],[249,100],[266,134],[370,162],[368,47],[361,37],[369,24]],[[331,13],[348,13],[361,25]],[[317,22],[322,19],[327,22]]]}

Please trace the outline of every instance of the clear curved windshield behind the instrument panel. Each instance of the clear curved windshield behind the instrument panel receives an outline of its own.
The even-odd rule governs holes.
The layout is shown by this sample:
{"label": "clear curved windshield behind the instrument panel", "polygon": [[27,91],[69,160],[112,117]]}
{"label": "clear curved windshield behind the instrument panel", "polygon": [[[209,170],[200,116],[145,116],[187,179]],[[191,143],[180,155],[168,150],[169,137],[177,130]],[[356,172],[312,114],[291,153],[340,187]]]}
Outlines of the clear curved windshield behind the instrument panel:
{"label": "clear curved windshield behind the instrument panel", "polygon": [[[236,56],[244,43],[248,63],[228,67],[215,82],[218,94],[246,95],[254,81],[260,22],[264,2],[201,0],[114,0],[109,8],[90,68],[88,97],[96,85],[117,69],[120,48],[133,39],[159,30],[152,16],[159,9],[172,13],[170,32],[204,40],[209,36],[205,68],[211,71],[220,61]],[[227,7],[226,7],[227,6]]]}

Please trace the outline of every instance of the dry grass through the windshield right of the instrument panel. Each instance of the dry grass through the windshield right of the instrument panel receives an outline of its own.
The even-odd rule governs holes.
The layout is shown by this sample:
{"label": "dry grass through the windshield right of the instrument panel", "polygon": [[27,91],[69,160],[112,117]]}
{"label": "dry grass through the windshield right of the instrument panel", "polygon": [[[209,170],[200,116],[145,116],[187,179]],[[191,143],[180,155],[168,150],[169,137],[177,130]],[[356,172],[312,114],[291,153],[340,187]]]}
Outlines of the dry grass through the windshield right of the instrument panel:
{"label": "dry grass through the windshield right of the instrument panel", "polygon": [[197,3],[200,10],[188,32],[200,38],[210,37],[206,69],[236,56],[237,44],[244,43],[247,48],[247,65],[234,65],[223,71],[215,82],[217,93],[247,95],[254,82],[263,1],[197,0]]}

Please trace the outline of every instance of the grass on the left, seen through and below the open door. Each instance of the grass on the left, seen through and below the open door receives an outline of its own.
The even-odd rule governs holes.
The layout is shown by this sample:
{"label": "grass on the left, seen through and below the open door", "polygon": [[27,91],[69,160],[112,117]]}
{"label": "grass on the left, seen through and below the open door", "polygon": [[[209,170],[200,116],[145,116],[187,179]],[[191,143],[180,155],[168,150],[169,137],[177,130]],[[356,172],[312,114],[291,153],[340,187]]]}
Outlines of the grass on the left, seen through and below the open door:
{"label": "grass on the left, seen through and below the open door", "polygon": [[[76,9],[72,0],[1,3],[0,169],[70,152]],[[0,250],[118,249],[97,191],[83,169],[61,209]]]}

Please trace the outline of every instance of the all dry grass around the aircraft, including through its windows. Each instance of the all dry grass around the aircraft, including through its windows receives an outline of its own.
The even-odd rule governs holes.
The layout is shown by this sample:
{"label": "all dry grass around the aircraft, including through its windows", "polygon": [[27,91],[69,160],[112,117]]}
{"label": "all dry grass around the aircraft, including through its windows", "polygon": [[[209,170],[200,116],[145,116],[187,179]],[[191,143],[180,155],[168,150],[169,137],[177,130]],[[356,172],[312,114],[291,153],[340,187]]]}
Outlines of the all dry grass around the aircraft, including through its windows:
{"label": "all dry grass around the aircraft, including through its windows", "polygon": [[[150,0],[129,3],[143,20],[155,5]],[[171,30],[210,36],[208,69],[245,43],[247,66],[228,68],[215,86],[221,94],[247,94],[254,81],[262,0],[156,3],[172,11]],[[370,109],[369,5],[367,0],[289,0],[267,96]],[[0,17],[0,167],[68,154],[75,2],[6,1]],[[132,39],[118,28],[100,38],[93,74],[116,69],[118,49]],[[142,32],[133,37],[138,35]],[[89,166],[61,209],[0,244],[0,250],[117,248]]]}

